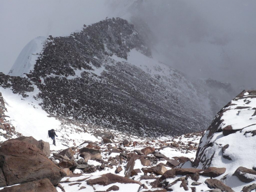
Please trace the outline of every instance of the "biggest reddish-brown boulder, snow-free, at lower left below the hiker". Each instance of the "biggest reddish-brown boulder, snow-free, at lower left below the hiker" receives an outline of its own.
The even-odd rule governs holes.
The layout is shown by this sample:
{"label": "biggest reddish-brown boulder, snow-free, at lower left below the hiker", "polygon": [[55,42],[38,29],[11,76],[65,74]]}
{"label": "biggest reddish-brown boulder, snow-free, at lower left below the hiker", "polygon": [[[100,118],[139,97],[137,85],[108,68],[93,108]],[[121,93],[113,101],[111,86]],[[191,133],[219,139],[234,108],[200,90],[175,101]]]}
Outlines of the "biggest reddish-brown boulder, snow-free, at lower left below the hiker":
{"label": "biggest reddish-brown boulder, snow-free, at lower left below the hiker", "polygon": [[35,144],[11,139],[0,146],[0,186],[48,178],[57,185],[66,176]]}

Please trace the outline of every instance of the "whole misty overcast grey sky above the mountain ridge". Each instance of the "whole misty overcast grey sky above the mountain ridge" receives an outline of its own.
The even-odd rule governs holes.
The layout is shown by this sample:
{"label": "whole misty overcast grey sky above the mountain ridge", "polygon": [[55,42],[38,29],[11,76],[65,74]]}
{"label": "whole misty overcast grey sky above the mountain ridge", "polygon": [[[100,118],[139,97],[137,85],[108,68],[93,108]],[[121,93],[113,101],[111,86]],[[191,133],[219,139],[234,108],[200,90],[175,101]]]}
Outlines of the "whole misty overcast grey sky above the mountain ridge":
{"label": "whole misty overcast grey sky above the mountain ridge", "polygon": [[255,0],[1,0],[0,71],[7,73],[37,36],[67,35],[106,16],[134,16],[154,57],[167,65],[256,87],[255,10]]}

